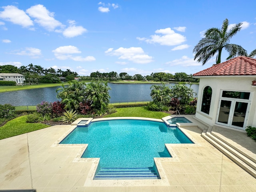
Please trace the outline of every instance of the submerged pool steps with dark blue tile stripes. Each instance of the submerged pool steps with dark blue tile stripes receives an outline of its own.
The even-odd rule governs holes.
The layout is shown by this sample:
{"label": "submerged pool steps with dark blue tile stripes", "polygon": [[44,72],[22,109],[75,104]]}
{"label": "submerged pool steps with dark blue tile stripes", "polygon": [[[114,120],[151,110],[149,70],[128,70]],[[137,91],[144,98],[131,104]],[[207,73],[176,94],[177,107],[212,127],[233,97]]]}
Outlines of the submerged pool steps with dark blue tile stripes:
{"label": "submerged pool steps with dark blue tile stripes", "polygon": [[101,168],[94,180],[119,179],[160,179],[152,167],[146,168]]}

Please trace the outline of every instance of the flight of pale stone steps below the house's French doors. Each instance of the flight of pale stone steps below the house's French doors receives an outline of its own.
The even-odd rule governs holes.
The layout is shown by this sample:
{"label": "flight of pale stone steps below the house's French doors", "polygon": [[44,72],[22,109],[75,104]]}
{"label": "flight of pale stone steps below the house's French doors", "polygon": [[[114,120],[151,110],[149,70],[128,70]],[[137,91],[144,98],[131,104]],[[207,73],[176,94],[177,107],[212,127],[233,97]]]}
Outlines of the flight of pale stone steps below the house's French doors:
{"label": "flight of pale stone steps below the house's French doors", "polygon": [[[207,130],[204,130],[202,132],[201,136],[205,140],[207,140],[210,144],[212,144],[214,147],[216,147],[220,152],[222,152],[224,155],[226,155],[228,158],[230,158],[233,162],[235,162],[238,166],[240,166],[246,172],[248,172],[254,178],[256,178],[256,165],[255,165],[254,162],[252,162],[251,160],[249,160],[245,156],[244,156],[244,159],[241,160],[240,158],[243,158],[242,154],[239,154],[239,152],[235,152],[235,150],[234,149],[230,149],[230,147],[229,147],[229,150],[226,149],[226,147],[228,145],[225,144],[224,142],[222,142],[221,140],[219,140],[218,138],[212,136],[212,134],[210,134],[210,132],[208,132]],[[230,152],[230,150],[232,152]],[[233,152],[235,154],[233,154]],[[238,156],[239,156],[239,158],[238,158]],[[246,162],[244,162],[244,161],[246,161]]]}

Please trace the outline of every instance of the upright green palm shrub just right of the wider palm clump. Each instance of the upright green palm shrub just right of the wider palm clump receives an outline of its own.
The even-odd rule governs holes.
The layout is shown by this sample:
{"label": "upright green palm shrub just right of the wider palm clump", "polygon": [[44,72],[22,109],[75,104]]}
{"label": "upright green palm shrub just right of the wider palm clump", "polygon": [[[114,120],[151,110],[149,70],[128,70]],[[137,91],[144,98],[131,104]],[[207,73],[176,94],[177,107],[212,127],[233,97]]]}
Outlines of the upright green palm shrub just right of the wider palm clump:
{"label": "upright green palm shrub just right of the wider palm clump", "polygon": [[108,108],[110,89],[108,82],[99,80],[94,80],[86,86],[86,101],[91,103],[92,109],[98,116],[102,116]]}

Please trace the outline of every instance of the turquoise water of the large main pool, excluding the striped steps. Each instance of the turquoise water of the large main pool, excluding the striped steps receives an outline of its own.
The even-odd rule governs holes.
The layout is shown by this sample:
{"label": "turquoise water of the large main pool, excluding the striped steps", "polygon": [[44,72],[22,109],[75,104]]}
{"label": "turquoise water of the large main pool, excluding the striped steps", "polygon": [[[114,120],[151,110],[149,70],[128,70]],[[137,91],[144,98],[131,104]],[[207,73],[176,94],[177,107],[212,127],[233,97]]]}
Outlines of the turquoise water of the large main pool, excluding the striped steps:
{"label": "turquoise water of the large main pool, excluding the striped steps", "polygon": [[104,120],[75,128],[60,144],[88,144],[83,158],[101,167],[152,167],[154,157],[170,157],[164,144],[192,143],[178,128],[148,120]]}

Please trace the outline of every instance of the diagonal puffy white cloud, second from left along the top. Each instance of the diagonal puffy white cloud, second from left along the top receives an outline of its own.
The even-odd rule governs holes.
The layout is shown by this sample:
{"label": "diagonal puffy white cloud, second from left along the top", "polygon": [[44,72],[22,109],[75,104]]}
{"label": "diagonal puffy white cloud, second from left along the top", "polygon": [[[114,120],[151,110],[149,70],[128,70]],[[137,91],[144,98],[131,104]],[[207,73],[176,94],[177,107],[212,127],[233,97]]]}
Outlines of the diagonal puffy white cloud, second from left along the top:
{"label": "diagonal puffy white cloud, second from left along the top", "polygon": [[54,19],[54,13],[49,12],[43,5],[35,5],[26,10],[30,17],[36,18],[34,22],[46,28],[49,31],[56,27],[64,27],[61,22]]}

